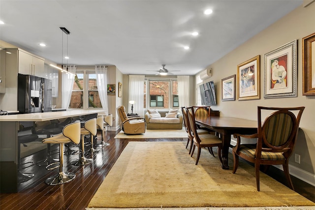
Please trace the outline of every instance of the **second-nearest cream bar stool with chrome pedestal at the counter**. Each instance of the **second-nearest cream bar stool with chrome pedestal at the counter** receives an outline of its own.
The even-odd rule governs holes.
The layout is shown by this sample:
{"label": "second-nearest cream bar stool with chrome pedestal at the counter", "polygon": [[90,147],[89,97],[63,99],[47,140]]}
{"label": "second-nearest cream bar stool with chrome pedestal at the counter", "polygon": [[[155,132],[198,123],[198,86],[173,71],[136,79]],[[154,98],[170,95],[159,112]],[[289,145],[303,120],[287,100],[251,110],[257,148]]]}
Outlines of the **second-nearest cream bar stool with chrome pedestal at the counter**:
{"label": "second-nearest cream bar stool with chrome pedestal at the counter", "polygon": [[[85,135],[91,134],[91,151],[93,153],[93,136],[96,135],[97,129],[96,129],[96,119],[90,119],[84,122],[84,128],[81,128],[81,154],[80,158],[77,161],[72,161],[71,164],[75,166],[83,166],[92,163],[93,159],[88,159],[84,156],[84,137]],[[96,150],[98,151],[98,150]]]}

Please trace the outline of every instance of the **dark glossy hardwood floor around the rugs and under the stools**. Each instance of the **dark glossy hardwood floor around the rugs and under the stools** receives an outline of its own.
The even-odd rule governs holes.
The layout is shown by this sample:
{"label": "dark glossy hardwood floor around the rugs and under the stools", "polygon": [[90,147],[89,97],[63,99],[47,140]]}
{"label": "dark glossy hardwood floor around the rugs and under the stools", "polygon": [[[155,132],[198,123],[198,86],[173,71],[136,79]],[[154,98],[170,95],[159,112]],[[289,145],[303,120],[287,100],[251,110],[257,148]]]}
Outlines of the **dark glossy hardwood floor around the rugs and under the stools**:
{"label": "dark glossy hardwood floor around the rugs and under the stools", "polygon": [[[57,174],[58,169],[47,171],[45,167],[34,164],[23,172],[34,173],[31,180],[19,186],[19,193],[1,193],[1,210],[85,210],[94,196],[97,188],[105,179],[111,167],[129,141],[187,141],[187,139],[114,139],[119,131],[106,132],[104,141],[110,146],[97,148],[101,152],[93,156],[94,162],[86,166],[73,166],[71,161],[78,158],[78,154],[64,155],[64,171],[76,174],[76,178],[61,185],[47,185],[45,179]],[[98,140],[99,143],[100,140]],[[73,147],[73,149],[78,149]],[[43,155],[43,154],[36,154]],[[58,158],[58,154],[55,154]],[[31,155],[24,161],[35,158]],[[231,165],[231,163],[230,163]],[[36,174],[46,174],[37,178]],[[272,167],[268,173],[274,179],[285,184],[284,174],[281,170]],[[295,191],[315,202],[315,187],[292,177]]]}

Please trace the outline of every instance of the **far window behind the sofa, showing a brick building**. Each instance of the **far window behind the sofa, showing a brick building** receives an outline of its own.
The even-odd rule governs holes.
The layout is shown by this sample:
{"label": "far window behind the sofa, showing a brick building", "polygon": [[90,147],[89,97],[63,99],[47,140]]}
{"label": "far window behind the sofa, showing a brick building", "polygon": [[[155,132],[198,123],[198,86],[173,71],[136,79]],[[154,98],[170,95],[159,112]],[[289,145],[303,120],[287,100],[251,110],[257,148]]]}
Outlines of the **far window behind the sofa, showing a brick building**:
{"label": "far window behind the sofa, showing a brick building", "polygon": [[[150,107],[164,109],[179,107],[177,79],[146,78],[144,89],[144,107],[148,107],[148,109]],[[146,98],[146,95],[149,97]],[[146,103],[146,100],[148,100],[148,103]]]}

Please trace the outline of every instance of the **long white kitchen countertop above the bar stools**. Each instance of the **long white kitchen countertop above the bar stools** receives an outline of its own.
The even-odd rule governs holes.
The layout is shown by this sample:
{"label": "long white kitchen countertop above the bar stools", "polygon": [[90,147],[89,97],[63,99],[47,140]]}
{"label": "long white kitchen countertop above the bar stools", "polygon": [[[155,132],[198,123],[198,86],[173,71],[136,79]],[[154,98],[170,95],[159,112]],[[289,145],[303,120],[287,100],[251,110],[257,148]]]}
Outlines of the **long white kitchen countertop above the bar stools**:
{"label": "long white kitchen countertop above the bar stools", "polygon": [[46,121],[76,117],[103,112],[103,110],[67,110],[60,112],[29,113],[17,115],[1,115],[0,121]]}

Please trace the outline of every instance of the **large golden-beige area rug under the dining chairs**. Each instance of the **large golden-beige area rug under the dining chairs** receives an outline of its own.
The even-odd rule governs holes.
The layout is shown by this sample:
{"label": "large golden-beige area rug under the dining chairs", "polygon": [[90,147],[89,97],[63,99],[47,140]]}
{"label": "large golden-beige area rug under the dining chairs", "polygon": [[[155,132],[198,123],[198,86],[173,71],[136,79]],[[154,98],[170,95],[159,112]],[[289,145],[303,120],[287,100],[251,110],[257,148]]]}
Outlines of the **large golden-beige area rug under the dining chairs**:
{"label": "large golden-beige area rug under the dining chairs", "polygon": [[190,157],[185,146],[186,142],[129,142],[88,208],[315,209],[315,203],[263,173],[257,192],[254,168],[243,161],[232,174],[231,169],[221,169],[218,157],[202,150],[195,165],[196,154]]}

